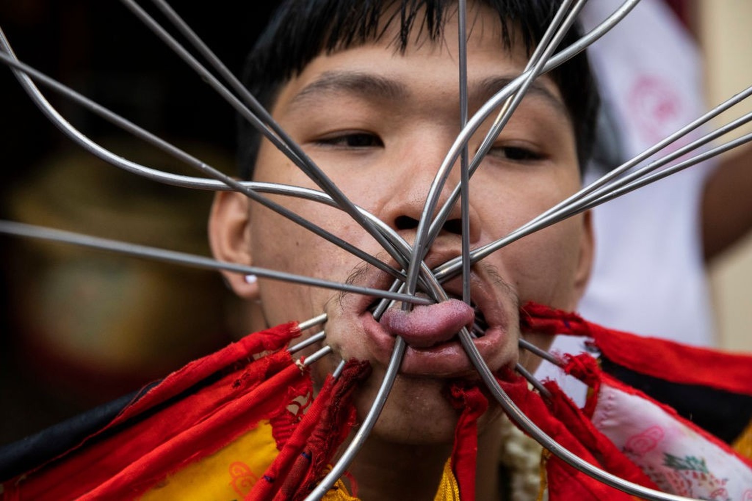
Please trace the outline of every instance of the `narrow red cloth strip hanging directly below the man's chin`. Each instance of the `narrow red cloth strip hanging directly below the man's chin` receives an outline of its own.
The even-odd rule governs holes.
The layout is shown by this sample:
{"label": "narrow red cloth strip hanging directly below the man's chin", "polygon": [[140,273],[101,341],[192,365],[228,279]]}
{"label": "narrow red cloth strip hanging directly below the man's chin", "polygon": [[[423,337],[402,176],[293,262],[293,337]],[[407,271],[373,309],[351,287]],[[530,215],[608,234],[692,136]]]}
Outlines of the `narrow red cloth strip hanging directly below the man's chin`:
{"label": "narrow red cloth strip hanging directly below the man's chin", "polygon": [[462,501],[475,499],[475,472],[478,459],[478,418],[488,409],[488,399],[477,386],[464,387],[453,384],[450,403],[462,409],[454,430],[452,471],[459,484]]}

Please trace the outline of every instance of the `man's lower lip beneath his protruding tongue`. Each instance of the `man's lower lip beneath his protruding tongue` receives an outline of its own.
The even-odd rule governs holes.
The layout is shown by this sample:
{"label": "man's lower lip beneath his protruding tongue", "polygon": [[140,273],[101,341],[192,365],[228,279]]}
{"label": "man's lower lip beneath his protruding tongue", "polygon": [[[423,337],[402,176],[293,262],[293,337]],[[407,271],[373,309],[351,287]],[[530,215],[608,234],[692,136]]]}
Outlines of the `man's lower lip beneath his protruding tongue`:
{"label": "man's lower lip beneath his protruding tongue", "polygon": [[[360,316],[362,325],[365,330],[367,340],[371,344],[369,350],[375,361],[384,366],[389,364],[392,352],[394,350],[395,337],[387,333],[384,327],[378,323],[370,312],[365,312]],[[504,342],[504,334],[499,327],[492,327],[486,331],[484,337],[473,340],[473,344],[478,348],[484,361],[487,364],[493,364],[494,348],[497,352],[503,352],[501,348]],[[490,367],[491,370],[498,370],[499,367]],[[465,349],[459,340],[451,340],[447,343],[441,343],[430,348],[412,348],[408,346],[405,350],[405,358],[402,359],[402,365],[399,372],[411,376],[431,376],[439,378],[461,377],[477,373],[473,367]]]}

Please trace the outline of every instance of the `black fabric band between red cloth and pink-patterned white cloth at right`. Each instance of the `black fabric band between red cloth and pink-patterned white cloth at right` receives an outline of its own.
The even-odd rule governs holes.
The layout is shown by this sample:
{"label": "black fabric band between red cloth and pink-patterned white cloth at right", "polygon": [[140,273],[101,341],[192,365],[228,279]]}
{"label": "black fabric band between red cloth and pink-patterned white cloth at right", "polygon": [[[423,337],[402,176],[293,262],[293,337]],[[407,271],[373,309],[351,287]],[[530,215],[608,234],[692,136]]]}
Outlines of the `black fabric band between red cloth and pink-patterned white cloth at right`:
{"label": "black fabric band between red cloth and pink-patterned white cloth at right", "polygon": [[734,442],[752,418],[752,397],[707,386],[682,385],[653,378],[614,364],[605,357],[601,357],[601,367],[605,373],[626,385],[673,407],[681,417],[726,443]]}

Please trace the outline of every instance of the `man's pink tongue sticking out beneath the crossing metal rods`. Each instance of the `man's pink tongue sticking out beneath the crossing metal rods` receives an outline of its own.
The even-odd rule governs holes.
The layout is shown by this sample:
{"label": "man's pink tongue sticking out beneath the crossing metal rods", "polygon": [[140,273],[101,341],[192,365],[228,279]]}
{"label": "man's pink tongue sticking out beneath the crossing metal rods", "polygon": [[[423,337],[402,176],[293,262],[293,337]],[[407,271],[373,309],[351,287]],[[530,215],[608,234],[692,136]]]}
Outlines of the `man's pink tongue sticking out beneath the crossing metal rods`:
{"label": "man's pink tongue sticking out beneath the crossing metal rods", "polygon": [[462,327],[472,327],[475,312],[457,299],[428,306],[415,306],[411,312],[387,309],[381,325],[394,336],[402,336],[414,348],[428,348],[444,343]]}

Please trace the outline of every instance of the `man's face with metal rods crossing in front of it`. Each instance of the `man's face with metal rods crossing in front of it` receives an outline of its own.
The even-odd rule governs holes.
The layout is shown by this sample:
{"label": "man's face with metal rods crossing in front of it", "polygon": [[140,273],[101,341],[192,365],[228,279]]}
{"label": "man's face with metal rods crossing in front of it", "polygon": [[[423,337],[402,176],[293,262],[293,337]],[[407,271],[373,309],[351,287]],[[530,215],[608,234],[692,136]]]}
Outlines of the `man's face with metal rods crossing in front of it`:
{"label": "man's face with metal rods crossing in front of it", "polygon": [[[526,64],[523,50],[510,53],[502,47],[496,14],[482,9],[477,14],[470,16],[474,25],[468,41],[471,112]],[[387,33],[384,40],[390,39]],[[282,86],[271,112],[350,200],[412,242],[429,186],[459,132],[457,72],[456,20],[449,20],[444,41],[420,40],[405,54],[387,42],[375,42],[317,57]],[[487,126],[469,144],[471,152],[485,130]],[[315,187],[266,141],[254,180]],[[459,167],[450,175],[440,203],[458,182]],[[504,236],[578,187],[572,125],[558,89],[543,77],[472,177],[472,247]],[[220,258],[370,287],[386,288],[393,281],[258,204],[241,215],[243,199],[223,198],[235,202],[226,200],[224,205],[232,208],[223,209],[220,201],[215,219],[234,223],[226,224],[231,236],[225,240],[232,251],[217,251],[221,246],[214,243]],[[295,198],[277,201],[387,260],[378,243],[345,213]],[[450,220],[426,256],[429,267],[460,254],[459,206]],[[590,232],[586,220],[578,217],[513,243],[473,267],[472,299],[490,326],[476,344],[492,370],[518,359],[519,304],[534,300],[574,309],[589,266]],[[258,292],[268,324],[326,312],[326,344],[336,355],[315,364],[314,372],[323,378],[343,358],[371,361],[374,374],[359,394],[361,412],[370,405],[394,343],[394,335],[368,312],[373,298],[271,280],[247,285],[239,276],[229,279],[241,295]],[[461,294],[459,278],[444,287]],[[448,378],[471,374],[472,367],[456,338],[435,346],[409,345],[376,432],[402,442],[447,439],[456,412],[444,402],[441,388]]]}

